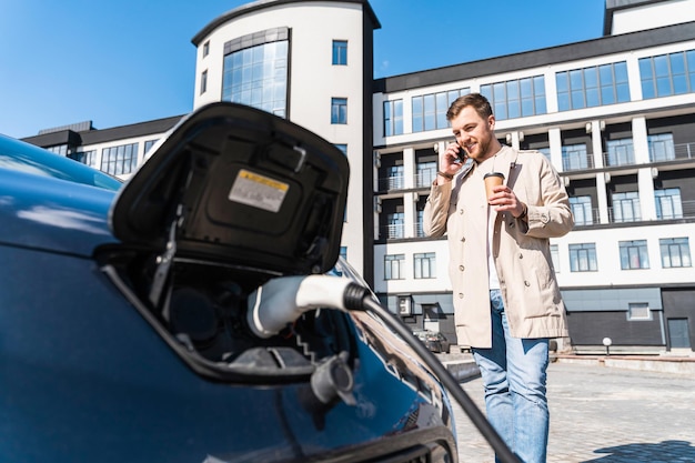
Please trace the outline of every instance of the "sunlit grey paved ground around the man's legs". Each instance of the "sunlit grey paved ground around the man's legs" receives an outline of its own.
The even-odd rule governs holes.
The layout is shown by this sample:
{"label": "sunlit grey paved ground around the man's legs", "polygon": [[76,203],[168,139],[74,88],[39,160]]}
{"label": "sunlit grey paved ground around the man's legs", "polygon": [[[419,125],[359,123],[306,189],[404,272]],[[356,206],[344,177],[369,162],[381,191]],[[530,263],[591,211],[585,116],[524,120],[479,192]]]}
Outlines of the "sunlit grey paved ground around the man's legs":
{"label": "sunlit grey paved ground around the man's legs", "polygon": [[[462,383],[484,410],[480,376]],[[552,363],[548,463],[695,462],[695,376]],[[494,462],[454,404],[461,462]]]}

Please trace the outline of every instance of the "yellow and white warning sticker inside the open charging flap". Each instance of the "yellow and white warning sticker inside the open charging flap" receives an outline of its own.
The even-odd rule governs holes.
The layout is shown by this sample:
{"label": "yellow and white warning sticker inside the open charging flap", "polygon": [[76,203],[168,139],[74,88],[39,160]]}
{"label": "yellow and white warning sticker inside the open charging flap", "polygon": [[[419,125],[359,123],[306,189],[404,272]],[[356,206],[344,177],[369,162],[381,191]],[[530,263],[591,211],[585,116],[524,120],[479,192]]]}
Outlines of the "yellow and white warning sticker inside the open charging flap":
{"label": "yellow and white warning sticker inside the open charging flap", "polygon": [[288,190],[290,190],[288,183],[242,169],[234,179],[229,200],[265,211],[278,212]]}

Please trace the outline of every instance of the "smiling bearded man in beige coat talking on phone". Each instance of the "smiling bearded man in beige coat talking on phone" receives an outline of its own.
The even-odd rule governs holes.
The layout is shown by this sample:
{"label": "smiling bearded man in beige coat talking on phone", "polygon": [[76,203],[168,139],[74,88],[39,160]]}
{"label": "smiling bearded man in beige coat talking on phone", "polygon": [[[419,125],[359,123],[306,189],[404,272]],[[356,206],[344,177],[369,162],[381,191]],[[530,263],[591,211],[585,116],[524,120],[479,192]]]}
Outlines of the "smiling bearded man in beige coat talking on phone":
{"label": "smiling bearded man in beige coat talking on phone", "polygon": [[[548,238],[574,225],[567,193],[542,153],[497,141],[483,95],[446,118],[456,142],[440,153],[424,230],[447,235],[456,336],[481,369],[491,424],[522,461],[545,462],[548,339],[568,335]],[[487,198],[492,171],[505,181]]]}

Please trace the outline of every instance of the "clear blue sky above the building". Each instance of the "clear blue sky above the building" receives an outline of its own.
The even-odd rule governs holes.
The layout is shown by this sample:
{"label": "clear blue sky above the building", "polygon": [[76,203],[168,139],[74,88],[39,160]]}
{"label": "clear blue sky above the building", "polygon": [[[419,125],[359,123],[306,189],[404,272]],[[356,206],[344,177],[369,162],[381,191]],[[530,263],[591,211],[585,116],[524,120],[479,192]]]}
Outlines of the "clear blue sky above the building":
{"label": "clear blue sky above the building", "polygon": [[[0,133],[193,107],[191,38],[245,0],[0,0]],[[371,0],[374,77],[600,38],[604,0]]]}

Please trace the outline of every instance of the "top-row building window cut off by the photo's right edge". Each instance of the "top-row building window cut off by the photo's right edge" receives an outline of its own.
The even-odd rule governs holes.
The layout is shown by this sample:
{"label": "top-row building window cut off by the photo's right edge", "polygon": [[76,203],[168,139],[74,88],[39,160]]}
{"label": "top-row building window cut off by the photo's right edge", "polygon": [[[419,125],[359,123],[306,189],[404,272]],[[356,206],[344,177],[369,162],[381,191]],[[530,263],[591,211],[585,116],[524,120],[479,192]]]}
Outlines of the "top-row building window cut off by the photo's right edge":
{"label": "top-row building window cut off by the photo's right edge", "polygon": [[695,50],[639,60],[642,98],[668,97],[695,91]]}

